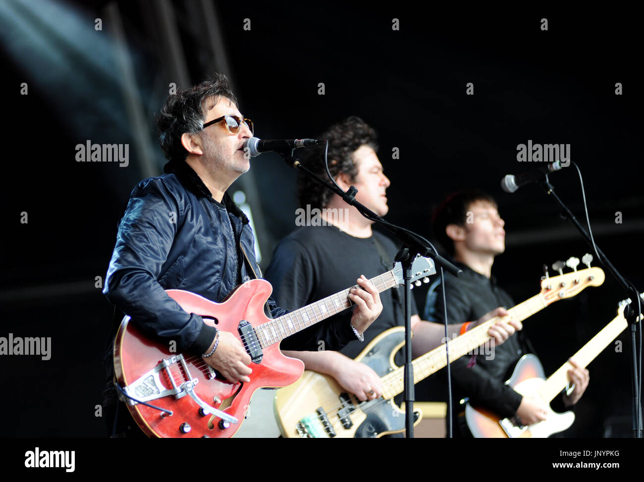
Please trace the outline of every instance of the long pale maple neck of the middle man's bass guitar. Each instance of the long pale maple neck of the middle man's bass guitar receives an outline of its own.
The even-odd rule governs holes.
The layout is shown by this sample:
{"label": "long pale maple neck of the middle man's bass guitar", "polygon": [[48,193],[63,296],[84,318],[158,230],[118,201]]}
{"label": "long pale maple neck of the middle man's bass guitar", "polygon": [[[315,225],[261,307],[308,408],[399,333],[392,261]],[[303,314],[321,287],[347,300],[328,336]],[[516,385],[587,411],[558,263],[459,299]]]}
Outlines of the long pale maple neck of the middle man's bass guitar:
{"label": "long pale maple neck of the middle man's bass guitar", "polygon": [[[542,294],[536,294],[532,298],[516,305],[515,307],[507,310],[509,320],[523,321],[529,316],[532,316],[538,311],[541,311],[547,306]],[[488,335],[489,327],[497,323],[500,317],[492,318],[481,325],[469,330],[467,333],[457,336],[454,340],[447,343],[448,350],[450,351],[450,361],[460,358],[464,354],[472,351],[476,347],[488,342],[490,336]],[[431,374],[439,371],[447,365],[447,355],[445,352],[445,345],[440,345],[435,349],[419,356],[413,360],[413,380],[418,383]],[[403,392],[403,374],[404,367],[401,367],[381,378],[383,381],[383,397],[385,399],[393,398],[397,394]]]}

